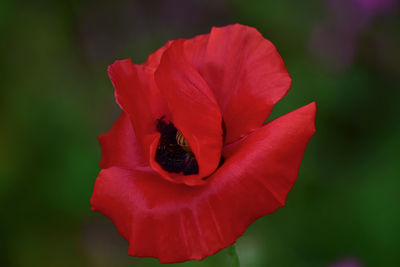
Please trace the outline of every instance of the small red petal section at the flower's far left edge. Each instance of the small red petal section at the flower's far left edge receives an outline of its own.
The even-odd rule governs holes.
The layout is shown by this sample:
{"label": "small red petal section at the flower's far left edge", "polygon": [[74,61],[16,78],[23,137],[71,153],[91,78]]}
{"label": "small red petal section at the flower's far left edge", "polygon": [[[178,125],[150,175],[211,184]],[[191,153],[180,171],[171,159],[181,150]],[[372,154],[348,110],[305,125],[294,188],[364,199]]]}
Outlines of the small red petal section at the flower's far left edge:
{"label": "small red petal section at the flower's far left edge", "polygon": [[108,133],[99,136],[99,142],[102,148],[100,166],[103,169],[113,166],[131,169],[149,165],[126,112],[122,112]]}

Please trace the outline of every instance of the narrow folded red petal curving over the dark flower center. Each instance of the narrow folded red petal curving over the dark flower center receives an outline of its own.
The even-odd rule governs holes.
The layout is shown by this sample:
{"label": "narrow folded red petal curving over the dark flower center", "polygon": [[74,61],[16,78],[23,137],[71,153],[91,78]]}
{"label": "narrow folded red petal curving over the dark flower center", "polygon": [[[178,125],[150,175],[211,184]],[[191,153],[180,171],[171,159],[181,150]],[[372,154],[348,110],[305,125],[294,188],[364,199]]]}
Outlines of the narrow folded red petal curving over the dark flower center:
{"label": "narrow folded red petal curving over the dark flower center", "polygon": [[213,93],[183,54],[184,40],[173,42],[155,73],[170,120],[189,143],[199,165],[198,179],[218,166],[222,149],[222,117]]}

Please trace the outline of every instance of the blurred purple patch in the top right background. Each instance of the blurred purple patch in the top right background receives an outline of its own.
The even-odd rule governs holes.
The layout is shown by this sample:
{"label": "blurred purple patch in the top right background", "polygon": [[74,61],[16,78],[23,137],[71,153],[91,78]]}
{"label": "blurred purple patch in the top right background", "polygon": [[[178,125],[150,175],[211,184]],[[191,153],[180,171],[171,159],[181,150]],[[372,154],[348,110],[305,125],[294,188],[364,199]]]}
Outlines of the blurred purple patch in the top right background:
{"label": "blurred purple patch in the top right background", "polygon": [[327,16],[314,26],[310,38],[312,54],[334,69],[351,67],[359,40],[373,19],[389,14],[396,0],[326,0]]}

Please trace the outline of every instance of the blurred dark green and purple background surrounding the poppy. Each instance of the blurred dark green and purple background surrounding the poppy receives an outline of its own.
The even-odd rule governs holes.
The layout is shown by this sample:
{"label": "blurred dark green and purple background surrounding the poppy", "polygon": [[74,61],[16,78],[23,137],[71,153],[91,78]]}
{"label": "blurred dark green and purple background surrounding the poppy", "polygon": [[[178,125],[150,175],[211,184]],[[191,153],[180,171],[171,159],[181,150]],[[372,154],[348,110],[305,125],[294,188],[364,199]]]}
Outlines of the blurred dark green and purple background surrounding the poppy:
{"label": "blurred dark green and purple background surrounding the poppy", "polygon": [[[313,100],[317,134],[286,207],[239,238],[242,266],[400,266],[396,0],[0,1],[0,266],[161,266],[90,210],[97,136],[120,114],[107,65],[169,39],[256,27]],[[226,251],[202,262],[229,266]]]}

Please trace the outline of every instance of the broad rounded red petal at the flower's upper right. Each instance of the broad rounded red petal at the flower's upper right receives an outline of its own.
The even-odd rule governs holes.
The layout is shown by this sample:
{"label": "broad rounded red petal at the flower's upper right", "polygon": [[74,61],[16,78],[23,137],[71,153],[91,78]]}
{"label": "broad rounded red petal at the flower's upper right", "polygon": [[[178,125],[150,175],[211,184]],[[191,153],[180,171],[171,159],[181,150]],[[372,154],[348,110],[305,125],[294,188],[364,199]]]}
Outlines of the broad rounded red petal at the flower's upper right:
{"label": "broad rounded red petal at the flower's upper right", "polygon": [[186,40],[185,54],[216,100],[231,143],[260,127],[291,79],[275,46],[254,28],[229,25]]}

